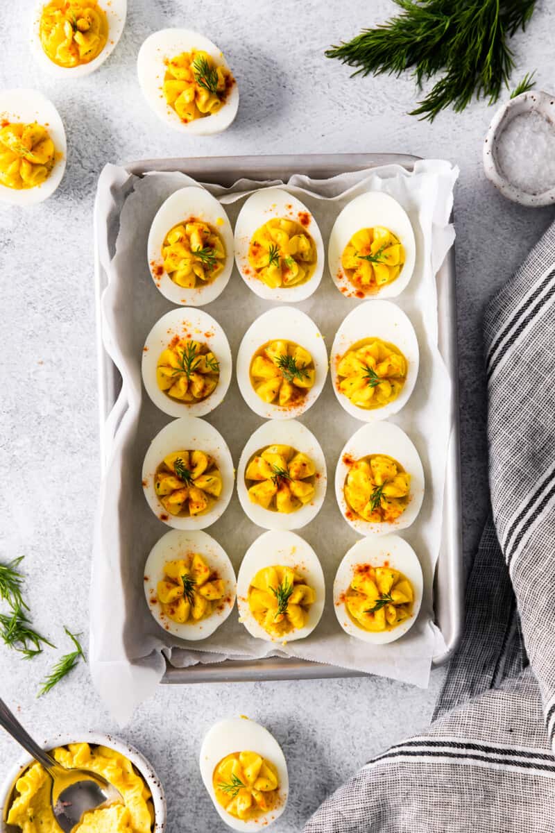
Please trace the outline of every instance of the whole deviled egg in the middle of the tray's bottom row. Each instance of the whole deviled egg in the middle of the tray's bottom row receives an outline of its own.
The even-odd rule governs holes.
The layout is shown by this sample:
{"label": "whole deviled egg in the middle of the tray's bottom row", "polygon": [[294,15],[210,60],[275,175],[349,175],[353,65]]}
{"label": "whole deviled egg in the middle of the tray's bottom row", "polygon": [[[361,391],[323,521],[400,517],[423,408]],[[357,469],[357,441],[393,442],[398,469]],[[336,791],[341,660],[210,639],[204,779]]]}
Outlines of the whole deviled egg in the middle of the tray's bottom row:
{"label": "whole deviled egg in the middle of the tray's bottom row", "polygon": [[245,552],[237,606],[251,636],[284,643],[305,639],[318,625],[324,601],[319,558],[295,532],[264,532]]}

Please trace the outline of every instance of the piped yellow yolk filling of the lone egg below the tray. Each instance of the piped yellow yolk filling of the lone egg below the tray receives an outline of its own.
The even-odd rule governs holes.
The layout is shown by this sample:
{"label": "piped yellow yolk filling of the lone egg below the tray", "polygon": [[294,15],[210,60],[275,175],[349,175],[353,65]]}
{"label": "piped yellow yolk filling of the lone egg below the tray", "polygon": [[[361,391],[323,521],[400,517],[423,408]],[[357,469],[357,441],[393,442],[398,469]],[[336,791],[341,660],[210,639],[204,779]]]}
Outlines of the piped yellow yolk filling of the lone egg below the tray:
{"label": "piped yellow yolk filling of the lone egg below the tray", "polygon": [[230,816],[250,821],[272,810],[280,782],[275,766],[256,752],[232,752],[212,776],[216,801]]}

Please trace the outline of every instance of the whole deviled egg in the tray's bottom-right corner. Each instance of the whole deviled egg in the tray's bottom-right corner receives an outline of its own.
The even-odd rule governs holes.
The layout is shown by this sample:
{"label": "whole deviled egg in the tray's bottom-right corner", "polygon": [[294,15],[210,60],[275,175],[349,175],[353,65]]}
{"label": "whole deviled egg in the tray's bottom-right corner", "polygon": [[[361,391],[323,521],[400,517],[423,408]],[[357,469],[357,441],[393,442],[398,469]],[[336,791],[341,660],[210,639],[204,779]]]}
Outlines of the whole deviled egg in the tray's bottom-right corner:
{"label": "whole deviled egg in the tray's bottom-right corner", "polygon": [[414,625],[422,602],[422,567],[397,535],[357,541],[339,564],[334,609],[349,636],[384,645]]}

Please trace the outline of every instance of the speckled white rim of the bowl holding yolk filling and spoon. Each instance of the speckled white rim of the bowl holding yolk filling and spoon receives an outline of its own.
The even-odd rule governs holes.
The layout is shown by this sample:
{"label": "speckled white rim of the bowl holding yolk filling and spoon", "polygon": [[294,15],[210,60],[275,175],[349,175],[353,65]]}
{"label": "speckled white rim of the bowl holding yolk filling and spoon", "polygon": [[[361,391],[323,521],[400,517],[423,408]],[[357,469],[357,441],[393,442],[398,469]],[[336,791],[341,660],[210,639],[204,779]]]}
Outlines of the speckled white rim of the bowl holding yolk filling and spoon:
{"label": "speckled white rim of the bowl holding yolk filling and spoon", "polygon": [[[154,806],[154,826],[152,833],[163,833],[166,830],[166,796],[161,781],[156,775],[154,767],[146,757],[141,754],[134,746],[121,740],[121,738],[113,735],[103,735],[102,732],[95,731],[78,731],[78,732],[62,732],[58,735],[50,737],[47,741],[37,741],[42,749],[55,749],[57,746],[67,746],[68,743],[90,743],[93,746],[108,746],[110,749],[120,752],[125,755],[133,766],[141,773],[145,779],[146,785],[152,794],[152,804]],[[2,788],[0,789],[0,806],[2,806],[2,830],[3,830],[3,814],[6,810],[6,803],[12,793],[13,786],[21,773],[27,769],[27,766],[32,763],[27,752],[22,752],[17,763],[12,766],[12,769],[7,773],[6,778],[2,781]]]}

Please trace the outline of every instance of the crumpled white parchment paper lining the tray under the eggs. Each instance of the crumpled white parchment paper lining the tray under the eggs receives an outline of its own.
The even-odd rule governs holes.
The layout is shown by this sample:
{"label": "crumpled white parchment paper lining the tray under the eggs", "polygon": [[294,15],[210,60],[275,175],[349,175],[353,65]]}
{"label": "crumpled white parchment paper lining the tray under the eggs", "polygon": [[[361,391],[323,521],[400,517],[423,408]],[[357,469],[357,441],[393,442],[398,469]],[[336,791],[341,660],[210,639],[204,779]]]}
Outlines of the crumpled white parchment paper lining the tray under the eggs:
{"label": "crumpled white parchment paper lining the tray under the eggs", "polygon": [[[151,279],[146,238],[166,197],[194,181],[179,172],[133,177],[124,168],[111,165],[102,172],[97,237],[101,266],[108,278],[101,304],[102,335],[107,352],[121,372],[122,387],[104,436],[108,457],[93,554],[91,670],[97,690],[117,719],[126,721],[134,706],[153,693],[165,671],[166,658],[175,666],[191,666],[226,658],[289,655],[427,686],[432,656],[442,641],[433,623],[432,584],[439,555],[445,461],[452,426],[450,380],[438,350],[435,275],[453,244],[449,216],[457,176],[458,169],[448,162],[424,160],[415,163],[413,172],[392,165],[329,180],[295,175],[285,183],[314,214],[326,248],[340,209],[364,191],[391,194],[404,206],[413,224],[417,247],[414,275],[409,287],[392,300],[409,315],[417,333],[419,378],[408,404],[391,421],[409,434],[424,465],[422,510],[414,525],[401,533],[421,561],[424,600],[409,633],[387,646],[354,640],[339,626],[331,592],[334,574],[358,536],[336,504],[334,470],[345,441],[361,423],[339,406],[328,378],[315,406],[300,417],[319,439],[328,466],[324,506],[315,520],[299,531],[314,547],[324,568],[326,606],[320,625],[308,638],[276,647],[251,637],[240,625],[236,611],[206,641],[192,644],[166,633],[148,611],[143,567],[151,547],[169,527],[146,504],[141,466],[152,437],[170,417],[152,404],[142,388],[141,353],[153,324],[172,307]],[[206,187],[225,204],[234,225],[245,196],[266,184],[238,179],[230,188]],[[314,319],[330,351],[334,334],[354,303],[354,299],[338,292],[326,269],[320,287],[299,307]],[[224,328],[234,362],[245,330],[270,306],[250,292],[235,269],[221,296],[204,307]],[[224,402],[206,419],[221,431],[236,466],[240,451],[261,420],[246,406],[235,378]],[[224,546],[235,571],[252,541],[263,532],[245,516],[236,494],[221,519],[206,531]]]}

